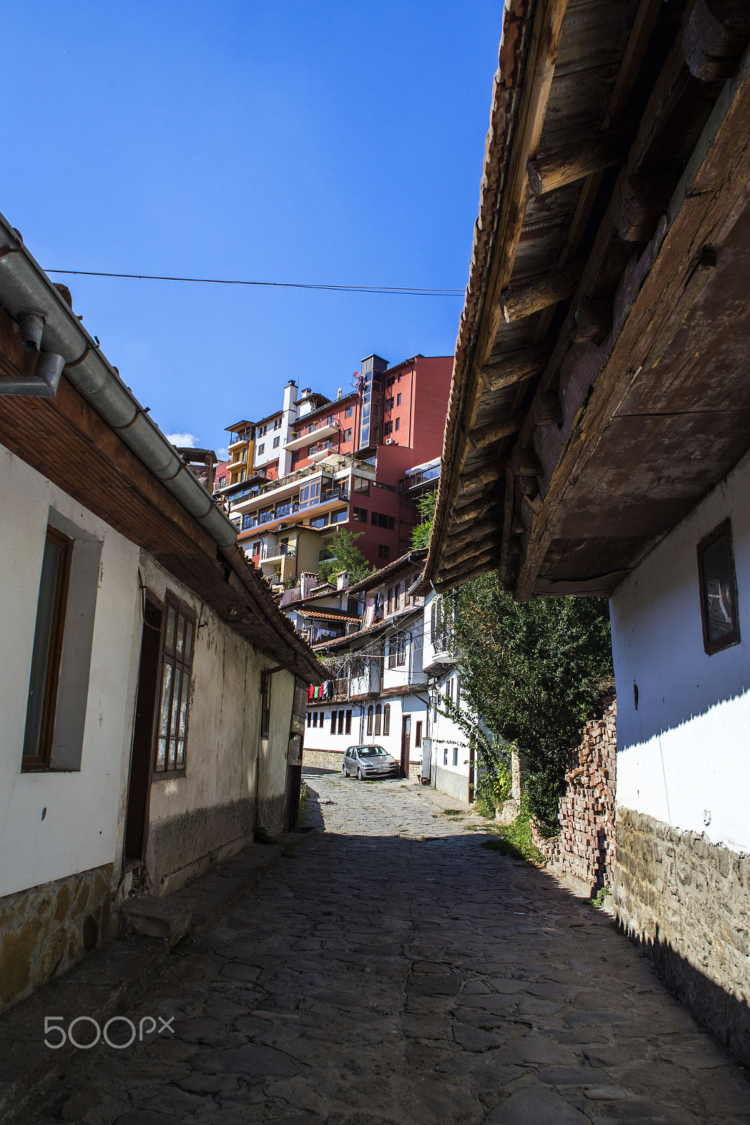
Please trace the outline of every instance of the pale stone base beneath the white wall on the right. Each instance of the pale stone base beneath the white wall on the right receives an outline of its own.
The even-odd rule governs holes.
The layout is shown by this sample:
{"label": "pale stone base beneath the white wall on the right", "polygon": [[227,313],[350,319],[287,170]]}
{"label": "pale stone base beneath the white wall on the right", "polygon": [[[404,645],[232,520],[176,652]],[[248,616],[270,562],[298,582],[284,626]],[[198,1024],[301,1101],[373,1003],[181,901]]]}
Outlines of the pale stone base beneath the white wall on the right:
{"label": "pale stone base beneath the white wall on the right", "polygon": [[620,926],[667,983],[750,1063],[750,856],[617,808]]}

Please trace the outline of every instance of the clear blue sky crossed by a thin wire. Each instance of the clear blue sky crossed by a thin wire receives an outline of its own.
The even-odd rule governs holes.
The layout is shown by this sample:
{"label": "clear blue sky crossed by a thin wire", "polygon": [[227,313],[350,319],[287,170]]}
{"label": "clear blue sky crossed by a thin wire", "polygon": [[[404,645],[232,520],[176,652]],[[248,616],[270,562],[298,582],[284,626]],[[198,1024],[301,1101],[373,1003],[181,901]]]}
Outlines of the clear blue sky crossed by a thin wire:
{"label": "clear blue sky crossed by a thin wire", "polygon": [[[459,288],[501,3],[25,0],[0,210],[45,269]],[[10,141],[12,138],[12,141]],[[165,433],[453,351],[460,297],[64,278]]]}

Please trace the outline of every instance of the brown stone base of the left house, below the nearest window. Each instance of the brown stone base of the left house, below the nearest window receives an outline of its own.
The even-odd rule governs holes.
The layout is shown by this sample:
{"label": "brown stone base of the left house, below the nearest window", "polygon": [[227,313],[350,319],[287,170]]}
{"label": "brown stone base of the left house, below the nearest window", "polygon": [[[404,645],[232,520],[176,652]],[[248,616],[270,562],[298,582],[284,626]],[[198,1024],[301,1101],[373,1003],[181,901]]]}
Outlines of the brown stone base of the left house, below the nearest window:
{"label": "brown stone base of the left house, below the nearest window", "polygon": [[0,1011],[112,936],[111,878],[108,863],[0,898]]}

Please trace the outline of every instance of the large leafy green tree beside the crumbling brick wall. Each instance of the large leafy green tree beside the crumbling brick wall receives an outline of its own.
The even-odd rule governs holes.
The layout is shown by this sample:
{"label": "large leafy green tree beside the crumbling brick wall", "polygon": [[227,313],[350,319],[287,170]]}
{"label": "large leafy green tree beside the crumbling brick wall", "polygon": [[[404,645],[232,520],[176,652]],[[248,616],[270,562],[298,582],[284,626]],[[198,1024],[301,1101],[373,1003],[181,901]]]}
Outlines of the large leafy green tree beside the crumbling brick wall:
{"label": "large leafy green tree beside the crumbling brick wall", "polygon": [[540,829],[558,830],[570,746],[614,688],[605,597],[514,602],[495,574],[452,591],[462,690],[493,731],[526,756],[526,790]]}

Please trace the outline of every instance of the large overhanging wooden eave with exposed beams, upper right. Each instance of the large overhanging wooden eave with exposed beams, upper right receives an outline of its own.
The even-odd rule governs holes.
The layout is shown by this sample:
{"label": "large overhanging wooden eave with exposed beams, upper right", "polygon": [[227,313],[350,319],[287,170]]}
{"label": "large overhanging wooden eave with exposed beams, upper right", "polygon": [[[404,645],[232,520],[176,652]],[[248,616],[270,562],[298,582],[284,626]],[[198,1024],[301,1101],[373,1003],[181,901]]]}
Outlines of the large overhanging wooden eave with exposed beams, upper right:
{"label": "large overhanging wooden eave with exposed beams, upper right", "polygon": [[608,594],[750,443],[750,18],[667,7],[506,11],[422,588]]}

